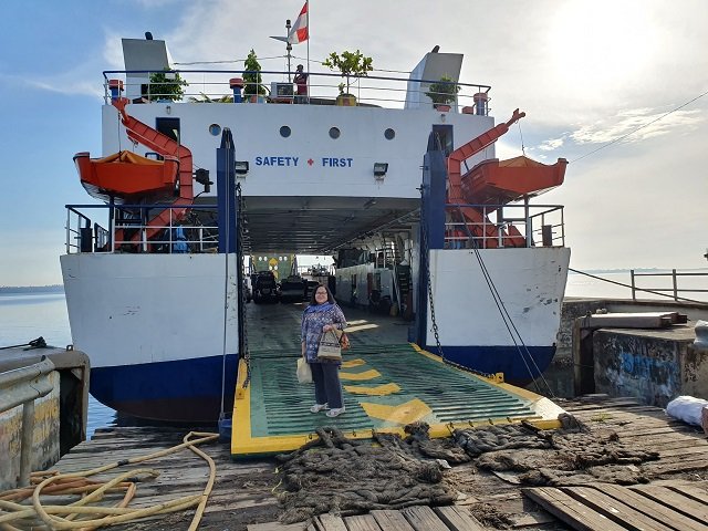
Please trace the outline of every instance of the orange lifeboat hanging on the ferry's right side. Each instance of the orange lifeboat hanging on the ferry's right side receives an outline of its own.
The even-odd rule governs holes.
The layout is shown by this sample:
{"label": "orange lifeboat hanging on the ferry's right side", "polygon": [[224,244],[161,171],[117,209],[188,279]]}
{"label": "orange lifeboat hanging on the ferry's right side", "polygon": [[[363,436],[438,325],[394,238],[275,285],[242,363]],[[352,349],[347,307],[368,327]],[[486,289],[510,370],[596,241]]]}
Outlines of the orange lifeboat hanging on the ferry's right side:
{"label": "orange lifeboat hanging on the ferry's right side", "polygon": [[485,160],[461,177],[460,188],[471,205],[506,205],[533,197],[563,184],[568,160],[541,164],[525,156]]}

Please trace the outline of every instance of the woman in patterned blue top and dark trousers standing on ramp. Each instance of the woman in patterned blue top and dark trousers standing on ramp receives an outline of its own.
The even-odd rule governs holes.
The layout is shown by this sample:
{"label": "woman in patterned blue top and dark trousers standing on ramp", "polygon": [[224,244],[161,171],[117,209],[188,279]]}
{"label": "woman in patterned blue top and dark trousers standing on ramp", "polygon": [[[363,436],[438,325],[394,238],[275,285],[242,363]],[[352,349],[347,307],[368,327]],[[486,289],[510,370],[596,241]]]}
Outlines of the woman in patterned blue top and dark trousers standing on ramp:
{"label": "woman in patterned blue top and dark trousers standing on ramp", "polygon": [[336,417],[344,413],[340,367],[342,362],[317,358],[317,350],[322,334],[329,330],[344,330],[346,319],[334,302],[334,296],[326,285],[317,284],[312,291],[310,305],[302,314],[301,340],[302,357],[310,364],[314,382],[314,402],[311,413],[329,409],[327,417]]}

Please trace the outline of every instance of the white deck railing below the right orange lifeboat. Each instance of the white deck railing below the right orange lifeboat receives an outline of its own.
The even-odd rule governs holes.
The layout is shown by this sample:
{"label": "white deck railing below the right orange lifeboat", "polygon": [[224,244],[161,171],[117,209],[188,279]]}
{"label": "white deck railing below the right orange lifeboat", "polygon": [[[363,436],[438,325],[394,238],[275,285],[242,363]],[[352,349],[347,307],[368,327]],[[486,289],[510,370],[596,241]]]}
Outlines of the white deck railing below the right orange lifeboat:
{"label": "white deck railing below the right orange lifeboat", "polygon": [[[473,209],[476,215],[466,218],[467,209]],[[451,204],[446,206],[446,249],[565,246],[560,205]]]}

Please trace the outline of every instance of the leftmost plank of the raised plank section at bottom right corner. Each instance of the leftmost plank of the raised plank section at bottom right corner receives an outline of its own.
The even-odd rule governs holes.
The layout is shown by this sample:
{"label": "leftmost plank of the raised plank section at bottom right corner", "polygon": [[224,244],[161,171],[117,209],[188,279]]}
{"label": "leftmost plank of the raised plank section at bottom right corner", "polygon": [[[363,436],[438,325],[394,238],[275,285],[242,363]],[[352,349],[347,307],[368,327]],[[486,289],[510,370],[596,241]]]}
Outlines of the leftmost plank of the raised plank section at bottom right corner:
{"label": "leftmost plank of the raised plank section at bottom right corner", "polygon": [[523,493],[577,531],[626,531],[604,514],[552,487],[523,489]]}

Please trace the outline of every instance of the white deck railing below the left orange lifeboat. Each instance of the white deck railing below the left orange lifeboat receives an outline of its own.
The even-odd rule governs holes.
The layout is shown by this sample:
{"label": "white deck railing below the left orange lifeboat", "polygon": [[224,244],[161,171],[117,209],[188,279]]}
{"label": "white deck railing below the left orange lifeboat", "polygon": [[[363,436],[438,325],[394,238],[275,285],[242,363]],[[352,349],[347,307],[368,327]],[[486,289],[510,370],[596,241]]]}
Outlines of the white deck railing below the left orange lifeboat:
{"label": "white deck railing below the left orange lifeboat", "polygon": [[[165,210],[169,212],[165,223],[145,221]],[[217,252],[219,228],[210,221],[216,219],[217,206],[191,205],[186,216],[184,210],[184,206],[159,204],[66,205],[66,253]]]}

